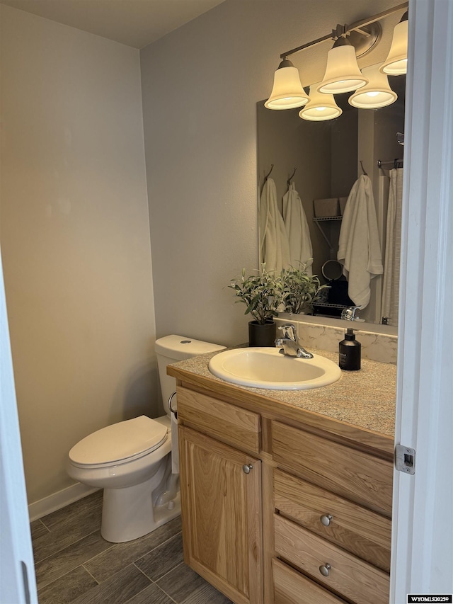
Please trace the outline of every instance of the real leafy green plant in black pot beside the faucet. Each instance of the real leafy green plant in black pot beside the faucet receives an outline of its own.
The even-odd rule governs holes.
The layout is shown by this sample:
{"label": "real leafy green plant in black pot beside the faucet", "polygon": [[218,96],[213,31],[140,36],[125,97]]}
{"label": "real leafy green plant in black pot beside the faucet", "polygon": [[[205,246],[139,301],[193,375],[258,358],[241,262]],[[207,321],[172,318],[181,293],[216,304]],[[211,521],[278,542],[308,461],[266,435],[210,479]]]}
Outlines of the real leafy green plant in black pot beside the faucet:
{"label": "real leafy green plant in black pot beside the faucet", "polygon": [[285,285],[281,275],[269,273],[265,263],[256,274],[246,277],[243,268],[241,278],[233,279],[229,285],[239,300],[246,304],[245,314],[251,314],[248,323],[249,346],[275,346],[276,326],[273,318],[282,309],[285,300]]}

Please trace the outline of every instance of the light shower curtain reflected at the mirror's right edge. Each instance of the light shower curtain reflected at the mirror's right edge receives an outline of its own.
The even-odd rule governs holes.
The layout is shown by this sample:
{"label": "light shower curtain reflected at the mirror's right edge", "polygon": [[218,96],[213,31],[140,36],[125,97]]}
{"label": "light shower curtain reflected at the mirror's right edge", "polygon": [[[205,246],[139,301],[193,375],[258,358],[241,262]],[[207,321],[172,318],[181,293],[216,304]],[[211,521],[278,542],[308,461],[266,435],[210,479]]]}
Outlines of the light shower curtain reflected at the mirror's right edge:
{"label": "light shower curtain reflected at the mirror's right edge", "polygon": [[403,168],[394,168],[390,171],[389,176],[390,190],[382,284],[382,317],[388,317],[389,325],[398,325]]}

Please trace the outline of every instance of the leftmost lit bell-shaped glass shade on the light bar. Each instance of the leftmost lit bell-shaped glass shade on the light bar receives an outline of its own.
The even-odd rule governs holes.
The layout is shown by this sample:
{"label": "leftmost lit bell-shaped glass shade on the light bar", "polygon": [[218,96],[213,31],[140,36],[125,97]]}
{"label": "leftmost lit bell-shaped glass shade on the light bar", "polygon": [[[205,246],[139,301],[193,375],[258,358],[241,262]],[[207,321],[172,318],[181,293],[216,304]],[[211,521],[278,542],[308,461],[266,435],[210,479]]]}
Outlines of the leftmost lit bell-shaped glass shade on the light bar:
{"label": "leftmost lit bell-shaped glass shade on the light bar", "polygon": [[302,107],[309,100],[300,83],[299,72],[291,61],[283,59],[274,74],[274,86],[268,101],[268,109],[292,109]]}

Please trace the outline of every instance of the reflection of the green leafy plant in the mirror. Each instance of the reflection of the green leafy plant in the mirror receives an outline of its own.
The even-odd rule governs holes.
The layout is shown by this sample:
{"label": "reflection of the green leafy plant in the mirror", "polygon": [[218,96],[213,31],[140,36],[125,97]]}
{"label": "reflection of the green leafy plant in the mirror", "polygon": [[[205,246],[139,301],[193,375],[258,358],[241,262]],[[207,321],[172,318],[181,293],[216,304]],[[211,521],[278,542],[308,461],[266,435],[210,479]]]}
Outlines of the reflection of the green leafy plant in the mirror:
{"label": "reflection of the green leafy plant in the mirror", "polygon": [[321,300],[329,285],[321,285],[316,275],[306,273],[306,263],[301,263],[300,268],[285,268],[282,270],[283,294],[285,300],[285,311],[299,314],[306,307],[310,309],[314,302]]}

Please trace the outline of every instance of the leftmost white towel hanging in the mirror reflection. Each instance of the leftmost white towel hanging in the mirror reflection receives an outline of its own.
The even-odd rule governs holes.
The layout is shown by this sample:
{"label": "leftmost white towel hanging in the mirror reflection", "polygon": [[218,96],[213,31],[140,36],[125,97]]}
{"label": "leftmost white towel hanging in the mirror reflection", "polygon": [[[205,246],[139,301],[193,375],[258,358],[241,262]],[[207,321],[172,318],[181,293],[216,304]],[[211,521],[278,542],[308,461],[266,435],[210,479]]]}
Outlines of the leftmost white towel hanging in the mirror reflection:
{"label": "leftmost white towel hanging in the mirror reflection", "polygon": [[268,272],[280,273],[289,268],[289,243],[285,222],[277,207],[277,191],[272,178],[263,186],[258,212],[260,224],[260,252]]}

